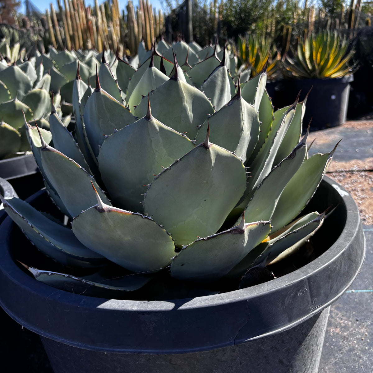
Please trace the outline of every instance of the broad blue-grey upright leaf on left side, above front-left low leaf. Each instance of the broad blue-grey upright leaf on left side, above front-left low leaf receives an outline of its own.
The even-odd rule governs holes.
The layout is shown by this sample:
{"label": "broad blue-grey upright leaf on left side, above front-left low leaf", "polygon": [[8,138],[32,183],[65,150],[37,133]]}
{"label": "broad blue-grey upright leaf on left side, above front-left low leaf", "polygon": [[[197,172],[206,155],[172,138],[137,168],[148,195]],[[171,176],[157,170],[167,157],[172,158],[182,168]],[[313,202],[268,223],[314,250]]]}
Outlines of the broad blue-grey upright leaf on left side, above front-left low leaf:
{"label": "broad blue-grey upright leaf on left side, above front-left low leaf", "polygon": [[95,204],[96,197],[90,187],[91,182],[101,198],[110,204],[93,176],[78,163],[45,143],[41,147],[41,162],[43,175],[46,176],[48,184],[56,190],[70,216],[78,216],[81,211]]}

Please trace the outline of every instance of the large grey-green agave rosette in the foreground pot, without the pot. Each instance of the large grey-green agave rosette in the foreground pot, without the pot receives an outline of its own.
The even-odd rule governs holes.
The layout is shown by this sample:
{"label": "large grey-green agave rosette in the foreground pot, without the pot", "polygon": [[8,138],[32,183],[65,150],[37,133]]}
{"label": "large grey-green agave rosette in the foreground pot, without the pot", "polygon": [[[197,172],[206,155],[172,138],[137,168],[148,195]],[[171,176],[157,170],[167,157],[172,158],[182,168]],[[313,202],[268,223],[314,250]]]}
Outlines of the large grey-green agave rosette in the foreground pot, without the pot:
{"label": "large grey-green agave rosette in the foreground pot, without the pot", "polygon": [[94,90],[76,74],[74,133],[53,106],[53,147],[25,120],[48,194],[68,221],[3,200],[52,259],[24,263],[37,280],[131,298],[162,276],[179,284],[239,279],[296,251],[320,227],[325,213],[300,211],[334,150],[308,157],[305,102],[273,113],[266,73],[235,87],[227,63],[215,49],[186,81],[176,57],[171,63],[154,50],[134,73],[117,60],[123,76],[132,74],[120,93],[104,62]]}

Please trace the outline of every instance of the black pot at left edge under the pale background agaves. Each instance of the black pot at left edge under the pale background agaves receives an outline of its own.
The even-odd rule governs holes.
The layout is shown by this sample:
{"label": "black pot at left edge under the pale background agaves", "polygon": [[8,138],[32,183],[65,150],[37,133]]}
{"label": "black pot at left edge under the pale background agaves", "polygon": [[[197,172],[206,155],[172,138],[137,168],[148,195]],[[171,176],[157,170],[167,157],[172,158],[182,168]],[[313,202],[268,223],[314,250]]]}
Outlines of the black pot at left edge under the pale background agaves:
{"label": "black pot at left edge under the pale background agaves", "polygon": [[44,188],[43,176],[32,154],[0,160],[0,178],[8,180],[23,200]]}

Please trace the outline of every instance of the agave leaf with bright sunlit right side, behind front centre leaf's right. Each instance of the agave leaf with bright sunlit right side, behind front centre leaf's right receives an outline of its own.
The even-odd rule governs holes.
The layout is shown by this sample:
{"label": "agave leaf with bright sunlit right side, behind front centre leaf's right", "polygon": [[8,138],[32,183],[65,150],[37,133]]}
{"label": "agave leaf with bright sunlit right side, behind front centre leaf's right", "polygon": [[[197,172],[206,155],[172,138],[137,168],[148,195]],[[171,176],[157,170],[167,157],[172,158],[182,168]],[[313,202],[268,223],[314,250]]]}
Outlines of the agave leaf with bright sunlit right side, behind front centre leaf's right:
{"label": "agave leaf with bright sunlit right side, behind front centre leaf's right", "polygon": [[198,130],[197,141],[204,140],[207,123],[210,141],[246,161],[258,141],[260,122],[258,112],[237,93],[228,104],[206,120]]}

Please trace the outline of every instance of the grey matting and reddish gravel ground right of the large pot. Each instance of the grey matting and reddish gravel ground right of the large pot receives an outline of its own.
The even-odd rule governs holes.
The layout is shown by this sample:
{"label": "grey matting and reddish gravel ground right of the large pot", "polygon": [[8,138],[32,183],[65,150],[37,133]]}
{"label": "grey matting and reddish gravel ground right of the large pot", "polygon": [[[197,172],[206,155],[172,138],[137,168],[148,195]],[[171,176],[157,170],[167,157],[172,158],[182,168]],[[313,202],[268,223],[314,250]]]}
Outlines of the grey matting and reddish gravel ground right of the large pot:
{"label": "grey matting and reddish gravel ground right of the large pot", "polygon": [[360,211],[367,254],[351,288],[334,303],[319,373],[373,372],[373,121],[311,132],[310,153],[326,153],[342,139],[327,176],[344,186]]}

